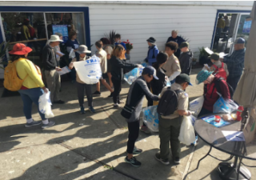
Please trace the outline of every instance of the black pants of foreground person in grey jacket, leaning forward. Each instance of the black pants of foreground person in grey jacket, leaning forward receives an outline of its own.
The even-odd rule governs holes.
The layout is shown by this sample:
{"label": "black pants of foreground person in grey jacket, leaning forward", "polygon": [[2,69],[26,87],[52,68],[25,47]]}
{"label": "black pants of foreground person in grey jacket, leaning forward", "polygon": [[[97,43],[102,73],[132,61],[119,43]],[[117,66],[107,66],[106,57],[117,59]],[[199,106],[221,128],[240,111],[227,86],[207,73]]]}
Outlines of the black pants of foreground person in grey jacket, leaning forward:
{"label": "black pants of foreground person in grey jacket, leaning forward", "polygon": [[138,132],[139,132],[139,121],[136,122],[128,122],[128,142],[127,142],[127,153],[133,154],[134,151],[134,144],[138,138]]}

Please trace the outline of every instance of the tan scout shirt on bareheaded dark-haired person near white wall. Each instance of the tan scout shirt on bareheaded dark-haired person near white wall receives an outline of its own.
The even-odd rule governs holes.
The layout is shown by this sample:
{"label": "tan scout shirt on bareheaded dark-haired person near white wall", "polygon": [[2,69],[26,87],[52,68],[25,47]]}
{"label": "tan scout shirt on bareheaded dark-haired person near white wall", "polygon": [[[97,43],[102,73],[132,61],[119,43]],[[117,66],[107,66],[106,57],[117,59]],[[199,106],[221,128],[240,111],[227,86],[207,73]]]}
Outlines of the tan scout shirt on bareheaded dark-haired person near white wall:
{"label": "tan scout shirt on bareheaded dark-haired person near white wall", "polygon": [[162,69],[166,70],[166,76],[169,78],[175,71],[181,72],[178,58],[172,54],[162,66]]}

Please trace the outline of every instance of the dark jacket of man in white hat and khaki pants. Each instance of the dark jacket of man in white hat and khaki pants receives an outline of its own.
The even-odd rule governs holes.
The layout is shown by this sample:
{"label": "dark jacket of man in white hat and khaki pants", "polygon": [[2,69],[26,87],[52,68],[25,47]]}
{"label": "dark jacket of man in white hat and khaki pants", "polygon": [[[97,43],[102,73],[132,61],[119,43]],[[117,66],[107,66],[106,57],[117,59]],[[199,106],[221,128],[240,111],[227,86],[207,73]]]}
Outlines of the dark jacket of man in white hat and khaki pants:
{"label": "dark jacket of man in white hat and khaki pants", "polygon": [[42,66],[44,70],[55,70],[55,67],[58,66],[54,48],[50,45],[46,45],[42,49]]}

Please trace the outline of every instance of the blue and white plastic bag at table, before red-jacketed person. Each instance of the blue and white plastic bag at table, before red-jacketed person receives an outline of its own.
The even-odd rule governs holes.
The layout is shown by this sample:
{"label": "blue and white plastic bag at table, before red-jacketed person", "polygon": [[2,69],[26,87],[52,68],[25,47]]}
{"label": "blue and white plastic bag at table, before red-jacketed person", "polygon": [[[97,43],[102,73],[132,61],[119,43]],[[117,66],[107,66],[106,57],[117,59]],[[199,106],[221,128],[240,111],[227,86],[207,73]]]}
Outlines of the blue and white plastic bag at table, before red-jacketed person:
{"label": "blue and white plastic bag at table, before red-jacketed person", "polygon": [[214,113],[232,113],[238,110],[238,105],[231,99],[218,98],[214,104]]}

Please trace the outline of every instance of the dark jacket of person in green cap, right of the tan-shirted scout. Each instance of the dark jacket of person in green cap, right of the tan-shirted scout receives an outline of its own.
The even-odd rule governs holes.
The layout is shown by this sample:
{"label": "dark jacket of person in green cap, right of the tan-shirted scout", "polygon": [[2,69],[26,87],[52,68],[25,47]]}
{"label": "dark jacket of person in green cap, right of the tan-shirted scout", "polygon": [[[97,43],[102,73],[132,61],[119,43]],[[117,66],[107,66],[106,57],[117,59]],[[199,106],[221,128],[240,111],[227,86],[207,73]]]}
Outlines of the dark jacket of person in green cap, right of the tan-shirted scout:
{"label": "dark jacket of person in green cap, right of the tan-shirted scout", "polygon": [[190,50],[182,53],[179,56],[178,60],[181,66],[182,73],[190,75],[192,69],[192,58],[193,53]]}

